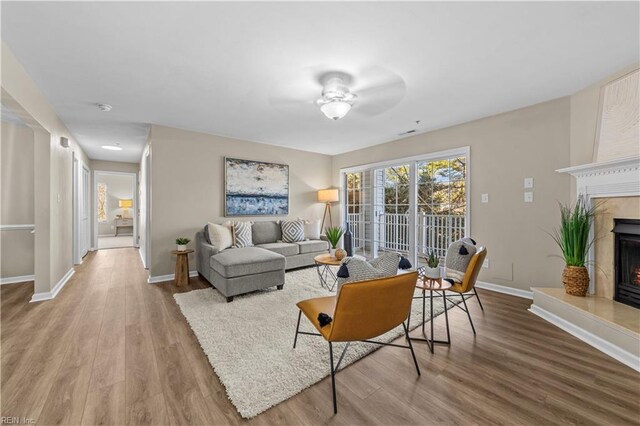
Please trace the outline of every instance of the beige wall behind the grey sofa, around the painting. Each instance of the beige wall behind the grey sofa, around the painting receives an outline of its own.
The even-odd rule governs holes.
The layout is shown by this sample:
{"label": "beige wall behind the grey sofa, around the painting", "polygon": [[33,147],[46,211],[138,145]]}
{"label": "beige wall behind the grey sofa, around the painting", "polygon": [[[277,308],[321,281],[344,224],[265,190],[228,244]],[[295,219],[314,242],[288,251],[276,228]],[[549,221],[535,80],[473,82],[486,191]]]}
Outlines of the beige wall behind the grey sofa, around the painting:
{"label": "beige wall behind the grey sofa, around the painting", "polygon": [[[225,156],[288,164],[290,217],[322,216],[316,191],[331,182],[330,156],[152,126],[152,277],[173,273],[175,259],[170,251],[175,249],[176,237],[193,239],[207,221],[222,219]],[[236,220],[263,219],[266,218]],[[195,270],[194,259],[191,262],[191,269]]]}

